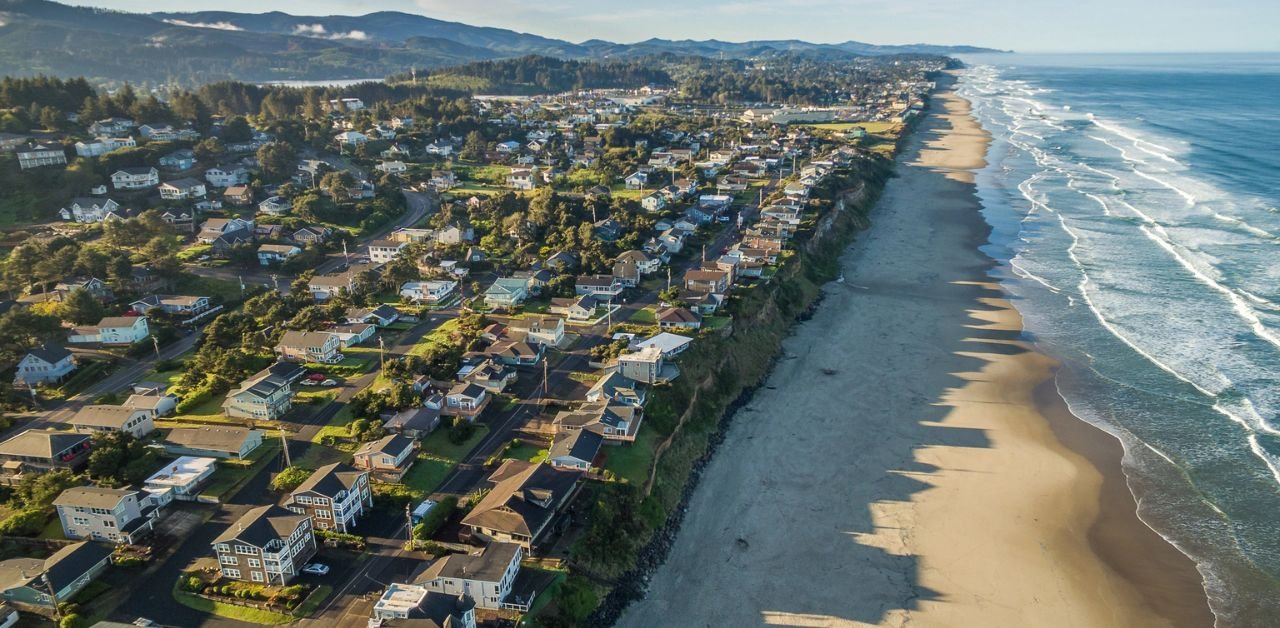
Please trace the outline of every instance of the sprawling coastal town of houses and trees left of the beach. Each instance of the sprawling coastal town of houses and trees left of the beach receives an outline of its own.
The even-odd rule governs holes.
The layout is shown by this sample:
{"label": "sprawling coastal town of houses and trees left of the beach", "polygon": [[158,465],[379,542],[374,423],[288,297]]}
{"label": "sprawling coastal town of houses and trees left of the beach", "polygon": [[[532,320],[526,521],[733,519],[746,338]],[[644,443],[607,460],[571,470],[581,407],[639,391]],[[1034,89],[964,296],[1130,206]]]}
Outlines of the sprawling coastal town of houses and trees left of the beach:
{"label": "sprawling coastal town of houses and trees left of the beach", "polygon": [[0,623],[582,624],[948,60],[841,63],[750,98],[3,79]]}

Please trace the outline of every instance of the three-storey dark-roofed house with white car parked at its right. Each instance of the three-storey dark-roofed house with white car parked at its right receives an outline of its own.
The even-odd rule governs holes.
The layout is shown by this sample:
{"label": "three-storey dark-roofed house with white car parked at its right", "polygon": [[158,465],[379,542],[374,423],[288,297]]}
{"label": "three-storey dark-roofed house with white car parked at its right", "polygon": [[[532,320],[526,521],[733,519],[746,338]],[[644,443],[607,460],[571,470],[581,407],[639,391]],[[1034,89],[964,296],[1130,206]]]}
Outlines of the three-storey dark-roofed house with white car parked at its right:
{"label": "three-storey dark-roofed house with white car parked at its right", "polygon": [[288,585],[316,554],[311,517],[278,505],[257,506],[214,538],[223,577]]}

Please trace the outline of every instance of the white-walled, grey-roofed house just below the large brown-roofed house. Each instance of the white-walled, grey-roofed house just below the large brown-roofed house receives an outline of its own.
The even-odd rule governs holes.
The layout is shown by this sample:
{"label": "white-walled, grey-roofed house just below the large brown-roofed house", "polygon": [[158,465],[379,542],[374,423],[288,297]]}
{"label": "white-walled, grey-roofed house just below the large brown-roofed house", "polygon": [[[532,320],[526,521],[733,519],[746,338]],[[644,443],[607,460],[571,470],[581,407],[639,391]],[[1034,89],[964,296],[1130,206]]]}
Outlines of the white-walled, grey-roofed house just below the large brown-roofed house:
{"label": "white-walled, grey-roofed house just below the large brown-roofed house", "polygon": [[467,596],[481,609],[502,609],[524,556],[525,549],[517,544],[492,542],[471,554],[442,556],[419,573],[413,583],[436,593]]}

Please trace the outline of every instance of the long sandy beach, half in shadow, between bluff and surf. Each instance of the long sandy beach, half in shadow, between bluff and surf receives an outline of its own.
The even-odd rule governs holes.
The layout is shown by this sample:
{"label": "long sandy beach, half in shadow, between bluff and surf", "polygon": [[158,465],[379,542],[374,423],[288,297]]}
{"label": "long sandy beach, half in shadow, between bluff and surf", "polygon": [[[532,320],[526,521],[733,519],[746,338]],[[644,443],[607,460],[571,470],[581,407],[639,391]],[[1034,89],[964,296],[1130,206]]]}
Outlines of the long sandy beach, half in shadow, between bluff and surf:
{"label": "long sandy beach, half in shadow, between bluff and surf", "polygon": [[986,133],[932,109],[620,625],[1212,625],[988,279]]}

